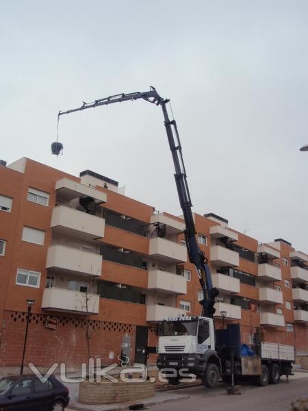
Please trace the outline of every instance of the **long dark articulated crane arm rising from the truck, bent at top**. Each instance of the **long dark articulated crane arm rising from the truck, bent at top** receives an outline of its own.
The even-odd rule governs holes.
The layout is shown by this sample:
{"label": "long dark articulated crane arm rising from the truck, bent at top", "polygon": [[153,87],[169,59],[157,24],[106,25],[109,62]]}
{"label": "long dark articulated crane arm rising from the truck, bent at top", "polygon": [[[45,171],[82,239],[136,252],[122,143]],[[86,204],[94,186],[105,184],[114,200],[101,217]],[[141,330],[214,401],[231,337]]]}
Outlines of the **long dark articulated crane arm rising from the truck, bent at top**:
{"label": "long dark articulated crane arm rising from the truck, bent at top", "polygon": [[58,119],[63,114],[70,114],[73,112],[86,110],[87,108],[99,107],[99,105],[107,105],[111,103],[120,103],[122,101],[144,99],[150,103],[162,106],[162,112],[164,114],[164,125],[166,127],[168,142],[170,151],[172,153],[173,164],[175,165],[175,184],[177,185],[177,193],[179,195],[179,201],[181,209],[183,211],[183,216],[185,220],[185,238],[186,247],[188,249],[188,257],[190,262],[196,267],[198,273],[199,282],[201,284],[204,298],[200,301],[202,306],[202,315],[207,317],[212,317],[215,308],[215,297],[218,295],[218,290],[213,287],[211,281],[211,273],[209,271],[209,266],[207,265],[207,258],[203,251],[198,247],[198,242],[196,241],[196,229],[194,226],[194,219],[192,216],[192,201],[190,199],[190,192],[188,189],[187,176],[185,171],[185,166],[183,162],[183,155],[181,149],[181,142],[179,139],[179,133],[177,131],[177,123],[175,120],[170,120],[168,116],[168,111],[166,104],[169,102],[168,99],[163,99],[159,96],[155,88],[151,87],[151,90],[146,92],[132,92],[129,94],[120,94],[105,99],[95,100],[92,103],[85,103],[79,108],[73,110],[68,110],[66,112],[59,112]]}

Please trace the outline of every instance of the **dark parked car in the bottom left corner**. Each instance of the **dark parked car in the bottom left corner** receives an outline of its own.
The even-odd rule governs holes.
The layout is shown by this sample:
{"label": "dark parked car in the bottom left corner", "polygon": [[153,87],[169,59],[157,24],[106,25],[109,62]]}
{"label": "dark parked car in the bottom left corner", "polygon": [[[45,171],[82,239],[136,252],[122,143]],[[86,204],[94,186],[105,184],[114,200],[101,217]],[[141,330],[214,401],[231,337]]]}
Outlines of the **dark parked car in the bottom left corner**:
{"label": "dark parked car in the bottom left corner", "polygon": [[33,374],[0,379],[0,411],[63,411],[68,395],[68,388],[53,375],[46,382]]}

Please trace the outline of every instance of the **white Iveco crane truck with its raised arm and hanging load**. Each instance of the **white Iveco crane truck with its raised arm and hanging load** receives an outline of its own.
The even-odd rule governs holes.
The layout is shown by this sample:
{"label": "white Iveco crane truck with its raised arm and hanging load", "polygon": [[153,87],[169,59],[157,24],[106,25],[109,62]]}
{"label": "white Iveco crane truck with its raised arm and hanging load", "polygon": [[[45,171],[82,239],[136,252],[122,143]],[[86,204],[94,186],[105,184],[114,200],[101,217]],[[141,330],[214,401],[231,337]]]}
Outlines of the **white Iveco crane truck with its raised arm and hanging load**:
{"label": "white Iveco crane truck with its raised arm and hanging load", "polygon": [[[220,377],[225,381],[234,377],[253,377],[255,381],[265,386],[268,382],[278,384],[281,375],[291,375],[294,362],[294,347],[275,343],[255,341],[255,351],[252,355],[243,355],[241,345],[241,332],[239,324],[229,324],[226,329],[214,327],[215,299],[218,290],[213,286],[211,272],[207,258],[196,240],[196,229],[192,215],[192,201],[188,188],[187,175],[183,162],[181,142],[177,123],[170,119],[167,110],[168,99],[162,98],[153,87],[146,92],[132,92],[120,94],[92,103],[84,102],[79,108],[59,112],[60,116],[88,108],[97,108],[101,105],[135,101],[144,99],[155,105],[160,105],[164,116],[164,125],[173,164],[175,166],[175,184],[183,219],[185,221],[185,244],[188,258],[196,268],[203,299],[201,303],[201,316],[178,316],[162,321],[159,333],[157,356],[158,369],[172,369],[172,377],[168,377],[170,384],[178,384],[181,370],[189,371],[201,377],[202,382],[209,388],[214,388]],[[62,152],[62,143],[56,141],[51,145],[55,155]]]}

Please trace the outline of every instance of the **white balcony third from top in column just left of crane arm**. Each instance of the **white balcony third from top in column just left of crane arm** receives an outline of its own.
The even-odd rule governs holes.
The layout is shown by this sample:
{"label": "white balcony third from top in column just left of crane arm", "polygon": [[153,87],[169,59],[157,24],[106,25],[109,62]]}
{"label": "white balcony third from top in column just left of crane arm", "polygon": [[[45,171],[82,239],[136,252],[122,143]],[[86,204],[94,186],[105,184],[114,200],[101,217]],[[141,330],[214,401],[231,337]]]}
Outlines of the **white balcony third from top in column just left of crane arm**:
{"label": "white balcony third from top in column just left of crane arm", "polygon": [[149,269],[148,288],[168,294],[186,294],[187,280],[182,275]]}

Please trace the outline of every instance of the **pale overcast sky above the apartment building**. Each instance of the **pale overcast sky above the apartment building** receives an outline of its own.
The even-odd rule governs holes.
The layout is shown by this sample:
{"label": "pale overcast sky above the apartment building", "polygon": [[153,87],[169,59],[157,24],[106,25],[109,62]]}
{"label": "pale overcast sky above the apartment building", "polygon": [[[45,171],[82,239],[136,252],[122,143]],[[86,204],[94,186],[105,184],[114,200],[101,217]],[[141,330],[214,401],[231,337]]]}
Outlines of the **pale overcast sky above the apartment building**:
{"label": "pale overcast sky above the apartment building", "polygon": [[153,85],[171,99],[194,211],[308,252],[308,1],[2,1],[1,154],[181,214],[161,109],[59,110]]}

